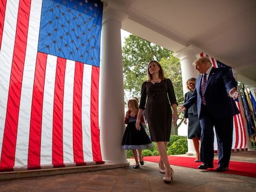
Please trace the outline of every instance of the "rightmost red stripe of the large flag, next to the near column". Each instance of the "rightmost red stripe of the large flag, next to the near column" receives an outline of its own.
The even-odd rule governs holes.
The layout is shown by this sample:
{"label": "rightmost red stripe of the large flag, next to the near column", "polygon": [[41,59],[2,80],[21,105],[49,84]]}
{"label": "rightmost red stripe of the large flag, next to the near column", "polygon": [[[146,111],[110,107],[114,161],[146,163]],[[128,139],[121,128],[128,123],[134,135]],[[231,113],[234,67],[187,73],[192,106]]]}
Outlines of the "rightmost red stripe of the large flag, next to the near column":
{"label": "rightmost red stripe of the large flag, next to the near column", "polygon": [[98,123],[98,90],[99,90],[99,67],[92,67],[92,86],[91,86],[91,134],[93,161],[101,161],[100,152],[100,130]]}

